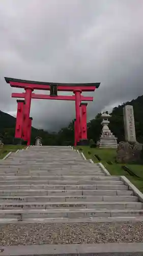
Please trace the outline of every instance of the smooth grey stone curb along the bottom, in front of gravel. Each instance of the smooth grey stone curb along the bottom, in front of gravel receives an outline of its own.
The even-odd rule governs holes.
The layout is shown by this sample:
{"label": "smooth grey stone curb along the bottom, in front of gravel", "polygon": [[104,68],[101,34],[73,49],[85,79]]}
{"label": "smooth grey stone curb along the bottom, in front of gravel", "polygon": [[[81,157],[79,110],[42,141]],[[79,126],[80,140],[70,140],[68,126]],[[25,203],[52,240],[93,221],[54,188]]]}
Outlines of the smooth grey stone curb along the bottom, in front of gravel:
{"label": "smooth grey stone curb along the bottom, in front of gravel", "polygon": [[95,256],[141,256],[143,243],[105,243],[105,244],[72,244],[72,245],[19,245],[2,246],[1,256],[28,255],[95,255]]}

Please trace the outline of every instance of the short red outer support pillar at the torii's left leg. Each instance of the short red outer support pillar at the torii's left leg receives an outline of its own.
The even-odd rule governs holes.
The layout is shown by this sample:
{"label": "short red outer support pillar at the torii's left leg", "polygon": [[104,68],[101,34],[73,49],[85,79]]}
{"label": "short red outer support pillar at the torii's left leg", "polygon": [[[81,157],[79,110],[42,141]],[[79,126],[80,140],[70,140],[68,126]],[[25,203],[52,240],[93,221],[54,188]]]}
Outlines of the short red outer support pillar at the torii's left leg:
{"label": "short red outer support pillar at the torii's left leg", "polygon": [[15,126],[15,138],[22,138],[22,127],[23,127],[23,112],[24,112],[24,100],[17,100],[17,117]]}

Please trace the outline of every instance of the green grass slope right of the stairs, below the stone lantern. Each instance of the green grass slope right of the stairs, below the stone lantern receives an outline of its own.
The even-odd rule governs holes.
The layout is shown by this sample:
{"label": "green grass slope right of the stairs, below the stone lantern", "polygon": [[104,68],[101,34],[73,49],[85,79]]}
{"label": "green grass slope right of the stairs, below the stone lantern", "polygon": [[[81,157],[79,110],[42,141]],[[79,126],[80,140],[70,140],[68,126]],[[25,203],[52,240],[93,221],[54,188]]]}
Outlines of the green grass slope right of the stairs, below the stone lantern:
{"label": "green grass slope right of the stairs, below the stone lantern", "polygon": [[[111,175],[126,176],[143,193],[143,165],[139,164],[118,164],[116,160],[116,150],[113,148],[90,148],[90,146],[77,146],[77,150],[83,152],[87,159],[92,159],[95,163],[101,162]],[[101,160],[99,161],[97,155]],[[107,163],[111,162],[111,164]],[[126,165],[134,174],[140,178],[130,176],[122,166]]]}

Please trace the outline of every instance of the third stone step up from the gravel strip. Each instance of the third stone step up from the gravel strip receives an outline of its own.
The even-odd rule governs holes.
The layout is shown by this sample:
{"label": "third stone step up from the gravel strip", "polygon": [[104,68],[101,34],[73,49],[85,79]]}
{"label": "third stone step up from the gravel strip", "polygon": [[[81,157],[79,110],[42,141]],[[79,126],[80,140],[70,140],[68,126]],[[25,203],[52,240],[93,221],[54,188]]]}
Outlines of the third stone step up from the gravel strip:
{"label": "third stone step up from the gravel strip", "polygon": [[[128,202],[128,201],[100,201],[100,202],[87,202],[87,201],[53,201],[53,202],[0,202],[0,209],[62,209],[62,208],[95,208],[95,209],[142,209],[141,202]],[[142,209],[143,210],[143,209]]]}

